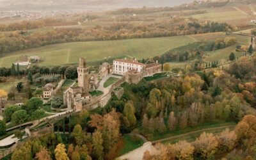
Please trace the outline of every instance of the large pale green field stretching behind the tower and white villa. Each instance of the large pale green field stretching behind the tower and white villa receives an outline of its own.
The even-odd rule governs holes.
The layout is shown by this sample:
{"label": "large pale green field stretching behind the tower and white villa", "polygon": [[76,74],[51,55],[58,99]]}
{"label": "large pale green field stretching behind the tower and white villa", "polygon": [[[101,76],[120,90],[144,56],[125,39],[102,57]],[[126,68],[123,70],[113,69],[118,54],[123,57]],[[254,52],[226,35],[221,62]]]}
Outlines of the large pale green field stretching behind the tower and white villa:
{"label": "large pale green field stretching behind the tower and white villa", "polygon": [[130,56],[138,59],[151,58],[194,41],[190,36],[170,36],[54,44],[3,54],[0,58],[0,67],[11,67],[11,64],[17,61],[20,55],[40,56],[44,60],[39,63],[40,66],[77,63],[79,57],[86,57],[88,61],[99,61],[120,56]]}

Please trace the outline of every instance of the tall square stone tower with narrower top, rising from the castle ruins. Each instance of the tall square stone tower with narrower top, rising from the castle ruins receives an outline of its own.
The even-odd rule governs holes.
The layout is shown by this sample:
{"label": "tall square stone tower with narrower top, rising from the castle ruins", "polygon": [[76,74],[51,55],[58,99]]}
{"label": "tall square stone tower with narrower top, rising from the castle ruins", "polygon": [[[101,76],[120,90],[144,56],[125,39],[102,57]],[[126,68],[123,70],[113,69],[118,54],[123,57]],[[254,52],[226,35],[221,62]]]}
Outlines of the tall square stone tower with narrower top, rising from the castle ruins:
{"label": "tall square stone tower with narrower top, rising from the castle ruins", "polygon": [[83,88],[84,92],[88,92],[90,76],[89,76],[88,68],[86,67],[85,58],[79,59],[79,66],[77,67],[77,74],[78,74],[78,86]]}

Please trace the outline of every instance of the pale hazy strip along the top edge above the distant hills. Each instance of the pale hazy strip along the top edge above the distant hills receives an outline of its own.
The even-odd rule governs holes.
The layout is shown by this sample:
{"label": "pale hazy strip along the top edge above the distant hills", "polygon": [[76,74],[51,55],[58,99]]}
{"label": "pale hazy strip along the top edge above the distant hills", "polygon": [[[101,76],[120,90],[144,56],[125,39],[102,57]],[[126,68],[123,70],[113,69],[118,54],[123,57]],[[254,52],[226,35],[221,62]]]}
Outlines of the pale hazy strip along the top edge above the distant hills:
{"label": "pale hazy strip along the top edge above the distant hills", "polygon": [[193,0],[0,0],[0,10],[175,6]]}

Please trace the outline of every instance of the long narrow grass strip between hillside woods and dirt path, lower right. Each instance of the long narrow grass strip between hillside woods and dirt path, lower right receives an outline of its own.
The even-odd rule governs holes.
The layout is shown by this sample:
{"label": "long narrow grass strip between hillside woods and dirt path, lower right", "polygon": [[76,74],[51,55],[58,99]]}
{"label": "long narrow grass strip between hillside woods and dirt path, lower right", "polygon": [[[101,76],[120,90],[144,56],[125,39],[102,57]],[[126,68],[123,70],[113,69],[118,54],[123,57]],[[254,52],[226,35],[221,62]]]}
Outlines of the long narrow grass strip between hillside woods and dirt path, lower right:
{"label": "long narrow grass strip between hillside woods and dirt path, lower right", "polygon": [[193,132],[193,131],[198,131],[201,129],[209,129],[213,127],[221,127],[225,125],[236,125],[234,122],[212,122],[212,123],[206,123],[197,127],[188,127],[186,129],[178,130],[178,131],[167,131],[164,134],[161,134],[159,132],[155,132],[154,134],[147,134],[147,132],[144,132],[140,129],[141,134],[147,136],[147,139],[150,141],[156,141],[156,140],[161,140],[163,138],[168,138],[171,136],[177,136],[179,134],[185,134],[188,132]]}

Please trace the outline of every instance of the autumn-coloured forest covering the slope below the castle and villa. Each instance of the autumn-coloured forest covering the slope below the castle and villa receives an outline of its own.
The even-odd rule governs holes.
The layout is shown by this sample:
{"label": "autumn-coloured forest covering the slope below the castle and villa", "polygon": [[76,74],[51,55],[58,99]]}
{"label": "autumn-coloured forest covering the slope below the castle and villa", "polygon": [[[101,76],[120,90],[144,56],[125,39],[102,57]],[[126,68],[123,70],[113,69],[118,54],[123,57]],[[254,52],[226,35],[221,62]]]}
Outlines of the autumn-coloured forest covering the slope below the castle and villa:
{"label": "autumn-coloured forest covering the slope below the castle and villa", "polygon": [[[97,111],[82,111],[70,124],[55,126],[70,134],[49,134],[28,140],[12,159],[114,159],[122,135],[140,132],[148,140],[212,122],[238,123],[234,131],[202,133],[193,142],[157,143],[143,159],[253,159],[255,158],[256,57],[243,57],[229,68],[198,72],[189,68],[182,77],[123,84]],[[72,132],[71,132],[72,131]],[[159,135],[157,134],[157,135]]]}

